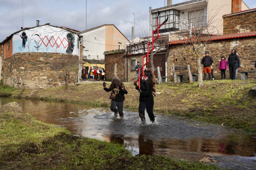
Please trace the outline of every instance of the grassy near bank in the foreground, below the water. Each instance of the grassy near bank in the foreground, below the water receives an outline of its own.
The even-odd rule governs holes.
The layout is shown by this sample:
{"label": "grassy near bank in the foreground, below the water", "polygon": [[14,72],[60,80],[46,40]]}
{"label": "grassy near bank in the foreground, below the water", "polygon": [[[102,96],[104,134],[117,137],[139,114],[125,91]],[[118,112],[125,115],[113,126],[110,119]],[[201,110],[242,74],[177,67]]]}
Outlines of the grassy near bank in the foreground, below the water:
{"label": "grassy near bank in the foreground, below the water", "polygon": [[0,107],[0,169],[218,169],[165,156],[132,156],[123,145],[75,137],[63,127]]}

